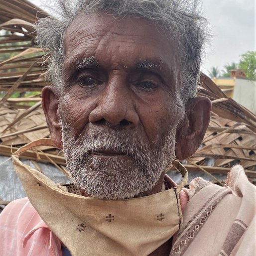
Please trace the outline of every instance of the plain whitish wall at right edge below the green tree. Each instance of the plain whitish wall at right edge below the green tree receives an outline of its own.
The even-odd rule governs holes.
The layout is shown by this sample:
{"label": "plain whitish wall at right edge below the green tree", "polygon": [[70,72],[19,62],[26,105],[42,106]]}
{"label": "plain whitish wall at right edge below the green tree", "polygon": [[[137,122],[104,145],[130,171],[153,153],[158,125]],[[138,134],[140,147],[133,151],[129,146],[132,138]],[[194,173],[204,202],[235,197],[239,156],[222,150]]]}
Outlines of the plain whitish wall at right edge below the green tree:
{"label": "plain whitish wall at right edge below the green tree", "polygon": [[256,81],[237,78],[233,99],[256,114]]}

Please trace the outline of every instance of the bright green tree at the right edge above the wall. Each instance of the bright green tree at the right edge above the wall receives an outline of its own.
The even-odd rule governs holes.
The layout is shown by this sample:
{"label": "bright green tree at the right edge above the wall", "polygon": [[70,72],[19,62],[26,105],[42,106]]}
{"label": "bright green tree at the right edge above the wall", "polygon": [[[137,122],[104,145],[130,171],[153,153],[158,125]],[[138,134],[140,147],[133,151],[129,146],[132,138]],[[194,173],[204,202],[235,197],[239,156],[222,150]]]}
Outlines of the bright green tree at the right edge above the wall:
{"label": "bright green tree at the right edge above the wall", "polygon": [[241,55],[239,68],[245,72],[247,78],[256,80],[256,51],[248,51]]}

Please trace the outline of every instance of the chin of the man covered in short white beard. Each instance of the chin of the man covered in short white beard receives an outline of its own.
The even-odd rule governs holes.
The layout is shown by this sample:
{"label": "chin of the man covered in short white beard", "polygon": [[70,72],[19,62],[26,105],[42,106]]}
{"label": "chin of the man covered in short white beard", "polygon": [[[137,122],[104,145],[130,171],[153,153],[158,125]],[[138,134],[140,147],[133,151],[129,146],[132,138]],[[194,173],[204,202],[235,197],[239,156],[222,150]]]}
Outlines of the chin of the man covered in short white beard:
{"label": "chin of the man covered in short white beard", "polygon": [[162,171],[143,168],[129,157],[90,156],[80,166],[68,166],[71,180],[87,195],[100,199],[133,198],[151,190]]}

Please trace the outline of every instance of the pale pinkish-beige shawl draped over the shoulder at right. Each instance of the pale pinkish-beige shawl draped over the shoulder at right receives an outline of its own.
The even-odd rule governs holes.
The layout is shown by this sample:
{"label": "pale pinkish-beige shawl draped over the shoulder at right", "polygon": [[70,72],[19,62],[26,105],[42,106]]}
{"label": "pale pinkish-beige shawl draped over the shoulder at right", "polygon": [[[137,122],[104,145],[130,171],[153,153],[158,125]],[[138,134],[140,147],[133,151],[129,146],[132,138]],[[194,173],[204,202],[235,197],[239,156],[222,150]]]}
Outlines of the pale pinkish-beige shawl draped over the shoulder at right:
{"label": "pale pinkish-beige shawl draped over the shoulder at right", "polygon": [[224,187],[196,178],[183,191],[189,201],[171,255],[254,255],[256,187],[242,166],[231,169]]}

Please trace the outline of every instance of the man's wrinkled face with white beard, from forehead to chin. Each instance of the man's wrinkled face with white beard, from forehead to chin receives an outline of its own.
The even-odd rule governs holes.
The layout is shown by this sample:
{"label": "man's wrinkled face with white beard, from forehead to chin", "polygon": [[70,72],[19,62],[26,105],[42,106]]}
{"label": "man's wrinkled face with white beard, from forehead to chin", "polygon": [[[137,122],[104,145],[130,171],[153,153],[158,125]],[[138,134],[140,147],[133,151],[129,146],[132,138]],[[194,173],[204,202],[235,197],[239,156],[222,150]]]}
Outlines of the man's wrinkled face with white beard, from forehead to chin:
{"label": "man's wrinkled face with white beard, from forehead to chin", "polygon": [[64,38],[62,140],[88,195],[131,198],[171,163],[183,119],[178,43],[141,18],[77,16]]}

